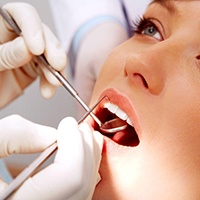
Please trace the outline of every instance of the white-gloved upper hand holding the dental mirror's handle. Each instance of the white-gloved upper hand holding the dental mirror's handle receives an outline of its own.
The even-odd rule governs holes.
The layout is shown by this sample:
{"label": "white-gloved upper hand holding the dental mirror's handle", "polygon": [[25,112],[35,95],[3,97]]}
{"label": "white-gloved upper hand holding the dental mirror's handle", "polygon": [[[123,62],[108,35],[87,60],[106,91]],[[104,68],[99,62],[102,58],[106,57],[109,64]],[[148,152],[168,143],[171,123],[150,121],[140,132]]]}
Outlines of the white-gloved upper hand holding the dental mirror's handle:
{"label": "white-gloved upper hand holding the dental mirror's handle", "polygon": [[0,16],[0,107],[20,95],[38,75],[43,96],[51,97],[60,84],[33,56],[44,53],[52,67],[64,73],[65,51],[31,5],[17,2],[2,8],[14,18],[22,33],[17,36]]}

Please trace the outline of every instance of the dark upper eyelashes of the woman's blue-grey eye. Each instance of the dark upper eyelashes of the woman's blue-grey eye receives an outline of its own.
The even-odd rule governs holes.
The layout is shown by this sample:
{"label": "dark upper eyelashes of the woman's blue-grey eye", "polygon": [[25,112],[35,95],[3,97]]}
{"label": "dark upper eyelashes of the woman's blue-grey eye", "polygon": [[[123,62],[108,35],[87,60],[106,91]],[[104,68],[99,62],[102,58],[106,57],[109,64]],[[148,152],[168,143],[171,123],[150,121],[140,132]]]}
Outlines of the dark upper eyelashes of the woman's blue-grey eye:
{"label": "dark upper eyelashes of the woman's blue-grey eye", "polygon": [[[137,19],[132,21],[132,26],[131,26],[130,32],[132,35],[134,35],[135,33],[144,35],[143,31],[148,26],[153,26],[156,29],[156,31],[158,31],[158,33],[160,34],[160,31],[159,31],[158,27],[155,25],[155,23],[153,23],[151,19],[145,18],[145,17],[138,17]],[[162,35],[161,35],[161,37],[162,37]]]}

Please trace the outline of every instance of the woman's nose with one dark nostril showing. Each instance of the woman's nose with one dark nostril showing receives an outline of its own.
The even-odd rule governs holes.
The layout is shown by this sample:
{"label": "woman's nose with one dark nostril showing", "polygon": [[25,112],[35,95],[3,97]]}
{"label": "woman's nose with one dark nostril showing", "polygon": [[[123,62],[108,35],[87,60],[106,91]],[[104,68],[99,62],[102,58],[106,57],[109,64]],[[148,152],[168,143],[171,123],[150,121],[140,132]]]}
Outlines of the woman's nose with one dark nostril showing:
{"label": "woman's nose with one dark nostril showing", "polygon": [[168,53],[164,45],[155,44],[127,57],[124,74],[131,84],[154,95],[162,92],[169,70]]}

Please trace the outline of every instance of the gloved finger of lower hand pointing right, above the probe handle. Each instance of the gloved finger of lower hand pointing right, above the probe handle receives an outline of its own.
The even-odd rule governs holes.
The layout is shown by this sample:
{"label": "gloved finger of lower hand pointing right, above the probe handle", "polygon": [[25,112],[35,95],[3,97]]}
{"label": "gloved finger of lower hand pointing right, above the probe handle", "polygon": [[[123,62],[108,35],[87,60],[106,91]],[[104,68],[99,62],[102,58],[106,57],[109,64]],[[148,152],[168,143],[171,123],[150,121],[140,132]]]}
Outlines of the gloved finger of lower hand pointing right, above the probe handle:
{"label": "gloved finger of lower hand pointing right, above the probe handle", "polygon": [[0,157],[13,153],[35,153],[57,139],[57,130],[30,122],[18,115],[0,120]]}

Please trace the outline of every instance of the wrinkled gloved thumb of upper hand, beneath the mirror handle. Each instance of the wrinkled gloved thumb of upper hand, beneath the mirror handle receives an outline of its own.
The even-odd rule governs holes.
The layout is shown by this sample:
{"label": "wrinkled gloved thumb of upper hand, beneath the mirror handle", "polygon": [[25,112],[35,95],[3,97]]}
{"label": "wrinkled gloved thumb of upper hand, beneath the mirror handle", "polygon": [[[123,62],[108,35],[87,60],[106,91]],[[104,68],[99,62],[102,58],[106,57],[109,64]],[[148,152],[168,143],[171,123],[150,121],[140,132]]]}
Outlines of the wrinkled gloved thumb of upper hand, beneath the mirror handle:
{"label": "wrinkled gloved thumb of upper hand, beneath the mirror handle", "polygon": [[0,71],[14,69],[28,63],[32,58],[22,37],[0,45]]}

